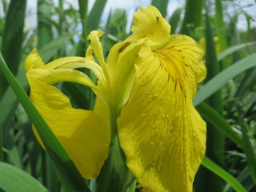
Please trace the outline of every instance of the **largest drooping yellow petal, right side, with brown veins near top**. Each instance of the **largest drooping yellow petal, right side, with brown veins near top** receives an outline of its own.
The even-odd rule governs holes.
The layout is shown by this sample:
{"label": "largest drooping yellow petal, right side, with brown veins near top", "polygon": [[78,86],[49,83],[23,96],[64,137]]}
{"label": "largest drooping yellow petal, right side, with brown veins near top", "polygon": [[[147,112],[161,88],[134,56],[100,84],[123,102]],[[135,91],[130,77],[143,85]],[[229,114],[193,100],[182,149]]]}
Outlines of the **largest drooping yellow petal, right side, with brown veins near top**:
{"label": "largest drooping yellow petal, right side, with brown veins near top", "polygon": [[127,166],[148,190],[192,191],[206,149],[206,123],[192,104],[206,75],[201,59],[202,49],[182,35],[138,54],[118,136]]}

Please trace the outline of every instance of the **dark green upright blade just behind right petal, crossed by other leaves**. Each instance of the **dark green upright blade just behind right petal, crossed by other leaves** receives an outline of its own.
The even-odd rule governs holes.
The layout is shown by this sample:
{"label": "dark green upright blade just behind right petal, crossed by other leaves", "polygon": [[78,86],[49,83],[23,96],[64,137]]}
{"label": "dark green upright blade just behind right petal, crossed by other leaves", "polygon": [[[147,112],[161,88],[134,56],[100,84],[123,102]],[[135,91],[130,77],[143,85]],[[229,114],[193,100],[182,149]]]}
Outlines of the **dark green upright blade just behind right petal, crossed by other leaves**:
{"label": "dark green upright blade just behind right petal, crossed by other leaves", "polygon": [[[210,19],[206,10],[206,68],[207,76],[206,81],[214,78],[220,71],[220,65],[217,61],[214,36],[212,33],[212,27],[210,25]],[[207,100],[208,104],[218,113],[223,110],[222,106],[222,95],[221,91],[218,90],[210,96]],[[224,153],[225,151],[225,139],[224,135],[218,129],[214,130],[214,125],[207,122],[207,132],[206,132],[207,142],[206,142],[206,155],[213,159],[214,162],[218,162],[218,165],[224,165]],[[219,153],[222,152],[222,153]],[[198,174],[199,181],[196,183],[201,186],[198,192],[215,192],[222,191],[224,187],[224,182],[222,179],[216,177],[215,174],[211,173],[206,169],[202,169],[202,174]],[[209,186],[211,186],[209,188]]]}

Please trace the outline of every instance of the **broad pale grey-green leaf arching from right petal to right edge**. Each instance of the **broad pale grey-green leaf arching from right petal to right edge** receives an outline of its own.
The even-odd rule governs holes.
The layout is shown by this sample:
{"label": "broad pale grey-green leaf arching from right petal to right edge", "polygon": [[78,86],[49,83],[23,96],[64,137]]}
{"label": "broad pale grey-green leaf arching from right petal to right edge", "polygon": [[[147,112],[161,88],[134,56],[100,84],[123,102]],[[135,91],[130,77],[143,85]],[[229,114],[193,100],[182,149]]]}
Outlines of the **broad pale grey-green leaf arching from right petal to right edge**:
{"label": "broad pale grey-green leaf arching from right petal to right edge", "polygon": [[214,94],[217,90],[222,88],[222,86],[226,85],[230,79],[241,74],[242,71],[248,70],[254,66],[256,66],[256,54],[251,54],[250,56],[234,63],[226,70],[223,70],[198,90],[198,93],[195,95],[193,100],[194,106],[197,106],[200,102],[209,98],[210,95]]}

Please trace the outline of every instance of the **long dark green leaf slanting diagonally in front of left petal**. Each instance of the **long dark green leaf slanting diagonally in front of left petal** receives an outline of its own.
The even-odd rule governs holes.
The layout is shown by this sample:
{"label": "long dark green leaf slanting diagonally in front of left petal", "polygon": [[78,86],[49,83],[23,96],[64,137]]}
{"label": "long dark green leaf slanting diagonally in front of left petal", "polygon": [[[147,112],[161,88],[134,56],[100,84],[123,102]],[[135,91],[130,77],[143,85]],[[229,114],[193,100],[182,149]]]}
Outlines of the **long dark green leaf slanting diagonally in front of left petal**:
{"label": "long dark green leaf slanting diagonally in front of left petal", "polygon": [[67,191],[90,191],[86,187],[86,183],[83,181],[81,174],[78,172],[74,162],[70,159],[70,156],[66,153],[62,144],[58,141],[58,138],[54,135],[50,127],[47,125],[41,114],[35,108],[30,98],[26,95],[24,90],[18,84],[13,74],[6,66],[2,54],[0,54],[0,70],[5,75],[7,82],[14,90],[14,93],[18,97],[19,102],[26,110],[34,126],[38,130],[38,134],[42,139],[46,151],[50,154],[51,161],[53,162],[54,168],[60,178],[62,185]]}

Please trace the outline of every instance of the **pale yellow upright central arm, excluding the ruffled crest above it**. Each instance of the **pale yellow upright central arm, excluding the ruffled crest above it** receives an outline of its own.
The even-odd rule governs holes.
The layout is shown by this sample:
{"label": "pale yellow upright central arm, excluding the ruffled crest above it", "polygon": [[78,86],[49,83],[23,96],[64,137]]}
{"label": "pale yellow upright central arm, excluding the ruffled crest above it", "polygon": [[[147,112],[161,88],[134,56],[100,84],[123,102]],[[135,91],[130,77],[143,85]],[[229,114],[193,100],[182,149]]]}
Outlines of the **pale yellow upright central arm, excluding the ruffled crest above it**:
{"label": "pale yellow upright central arm, excluding the ruffled crest above it", "polygon": [[127,102],[134,84],[134,62],[138,57],[142,43],[143,41],[132,43],[130,38],[127,38],[125,42],[113,46],[107,58],[111,89],[114,93],[113,102],[115,102],[115,104],[111,104],[114,104],[119,110]]}

